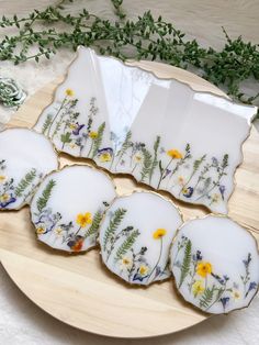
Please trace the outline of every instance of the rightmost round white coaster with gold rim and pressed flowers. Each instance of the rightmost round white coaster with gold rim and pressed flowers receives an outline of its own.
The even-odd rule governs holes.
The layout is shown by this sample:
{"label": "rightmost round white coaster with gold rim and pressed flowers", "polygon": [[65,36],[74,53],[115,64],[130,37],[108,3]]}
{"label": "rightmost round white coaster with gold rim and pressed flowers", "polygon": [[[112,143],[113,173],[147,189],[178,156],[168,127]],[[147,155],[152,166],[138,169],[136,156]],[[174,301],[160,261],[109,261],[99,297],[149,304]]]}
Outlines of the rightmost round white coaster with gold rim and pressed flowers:
{"label": "rightmost round white coaster with gold rim and pressed flowers", "polygon": [[247,307],[257,292],[256,240],[228,218],[209,215],[184,224],[170,260],[179,292],[207,313]]}

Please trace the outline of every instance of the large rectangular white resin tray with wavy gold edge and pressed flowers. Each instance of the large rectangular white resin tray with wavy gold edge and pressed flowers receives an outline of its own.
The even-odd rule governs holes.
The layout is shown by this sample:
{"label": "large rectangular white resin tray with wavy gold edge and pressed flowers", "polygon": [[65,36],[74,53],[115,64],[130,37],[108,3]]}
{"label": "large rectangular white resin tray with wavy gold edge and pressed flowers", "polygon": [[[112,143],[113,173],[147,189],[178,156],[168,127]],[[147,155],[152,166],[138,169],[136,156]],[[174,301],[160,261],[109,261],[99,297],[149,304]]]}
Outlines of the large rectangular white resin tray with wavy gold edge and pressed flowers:
{"label": "large rectangular white resin tray with wavy gold edge and pressed flowers", "polygon": [[35,130],[59,151],[226,213],[255,113],[80,47]]}

